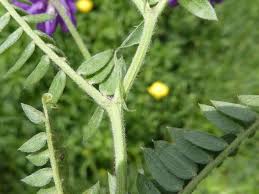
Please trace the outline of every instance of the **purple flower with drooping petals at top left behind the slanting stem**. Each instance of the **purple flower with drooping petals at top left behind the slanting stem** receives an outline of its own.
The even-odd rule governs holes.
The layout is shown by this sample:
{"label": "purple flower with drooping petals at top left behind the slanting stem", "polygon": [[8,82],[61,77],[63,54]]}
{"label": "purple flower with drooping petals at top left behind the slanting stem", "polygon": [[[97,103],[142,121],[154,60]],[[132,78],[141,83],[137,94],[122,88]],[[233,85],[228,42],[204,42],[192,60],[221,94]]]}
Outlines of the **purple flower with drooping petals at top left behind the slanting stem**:
{"label": "purple flower with drooping petals at top left behind the slanting stem", "polygon": [[[64,7],[67,10],[67,15],[70,17],[71,21],[76,25],[76,7],[74,0],[60,0],[61,3],[64,5]],[[37,25],[37,28],[43,32],[45,32],[48,35],[52,35],[57,26],[60,25],[61,29],[64,32],[68,31],[68,28],[61,18],[61,16],[58,14],[55,7],[49,2],[49,0],[30,0],[31,4],[26,4],[19,2],[19,0],[13,0],[12,1],[14,5],[24,9],[29,14],[41,14],[41,13],[48,13],[55,16],[55,19],[46,21],[44,23],[39,23]]]}

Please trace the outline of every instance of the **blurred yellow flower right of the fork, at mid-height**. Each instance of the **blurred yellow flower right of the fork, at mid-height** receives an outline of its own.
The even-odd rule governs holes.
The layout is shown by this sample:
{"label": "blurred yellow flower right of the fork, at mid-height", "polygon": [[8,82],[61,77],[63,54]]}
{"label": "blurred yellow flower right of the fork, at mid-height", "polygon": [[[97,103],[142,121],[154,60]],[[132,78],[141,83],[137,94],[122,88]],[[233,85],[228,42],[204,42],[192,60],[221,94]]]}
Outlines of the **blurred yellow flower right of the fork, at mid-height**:
{"label": "blurred yellow flower right of the fork, at mid-height", "polygon": [[156,81],[148,87],[148,93],[155,99],[160,100],[169,94],[169,87],[163,82]]}

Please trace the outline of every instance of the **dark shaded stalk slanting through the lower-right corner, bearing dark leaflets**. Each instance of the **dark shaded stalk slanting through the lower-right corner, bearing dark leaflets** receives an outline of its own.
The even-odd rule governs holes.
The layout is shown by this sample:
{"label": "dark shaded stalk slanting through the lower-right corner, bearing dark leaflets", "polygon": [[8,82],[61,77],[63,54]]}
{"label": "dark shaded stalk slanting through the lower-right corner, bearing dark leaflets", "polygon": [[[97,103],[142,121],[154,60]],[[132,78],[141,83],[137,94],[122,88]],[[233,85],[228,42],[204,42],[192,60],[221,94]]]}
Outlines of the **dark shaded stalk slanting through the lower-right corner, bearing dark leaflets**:
{"label": "dark shaded stalk slanting through the lower-right corner, bearing dark leaflets", "polygon": [[190,194],[194,191],[197,185],[206,178],[213,169],[219,166],[233,151],[235,151],[238,146],[247,139],[250,135],[255,133],[259,128],[259,120],[257,120],[250,128],[248,128],[245,132],[241,133],[221,154],[219,154],[215,160],[213,160],[210,164],[208,164],[197,177],[195,177],[192,181],[185,186],[184,190],[179,192],[179,194]]}

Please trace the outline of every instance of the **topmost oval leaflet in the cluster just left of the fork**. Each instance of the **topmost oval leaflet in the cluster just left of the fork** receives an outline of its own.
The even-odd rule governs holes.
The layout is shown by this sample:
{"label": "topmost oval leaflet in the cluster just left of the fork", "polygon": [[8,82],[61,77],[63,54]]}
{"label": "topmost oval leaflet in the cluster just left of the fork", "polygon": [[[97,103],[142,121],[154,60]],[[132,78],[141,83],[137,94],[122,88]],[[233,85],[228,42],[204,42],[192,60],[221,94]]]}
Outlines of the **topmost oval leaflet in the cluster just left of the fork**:
{"label": "topmost oval leaflet in the cluster just left of the fork", "polygon": [[93,75],[110,62],[112,55],[113,50],[106,50],[92,56],[80,65],[77,73],[85,76]]}

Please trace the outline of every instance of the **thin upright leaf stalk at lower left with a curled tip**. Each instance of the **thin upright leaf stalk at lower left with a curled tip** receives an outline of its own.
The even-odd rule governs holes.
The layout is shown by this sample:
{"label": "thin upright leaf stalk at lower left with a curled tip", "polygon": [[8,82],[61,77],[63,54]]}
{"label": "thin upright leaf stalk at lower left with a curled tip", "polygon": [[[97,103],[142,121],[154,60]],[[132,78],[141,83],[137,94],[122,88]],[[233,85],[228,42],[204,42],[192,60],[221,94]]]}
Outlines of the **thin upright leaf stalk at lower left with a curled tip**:
{"label": "thin upright leaf stalk at lower left with a curled tip", "polygon": [[43,110],[45,115],[45,128],[46,128],[46,134],[47,134],[49,159],[50,159],[51,169],[53,172],[53,180],[55,183],[57,194],[63,194],[64,192],[62,188],[62,180],[60,178],[58,162],[55,156],[55,149],[53,145],[52,132],[51,132],[51,126],[49,121],[49,115],[48,115],[48,108],[47,108],[46,99],[44,96],[42,98],[42,105],[43,105]]}

